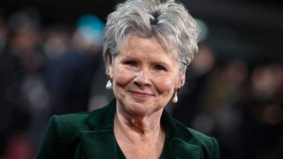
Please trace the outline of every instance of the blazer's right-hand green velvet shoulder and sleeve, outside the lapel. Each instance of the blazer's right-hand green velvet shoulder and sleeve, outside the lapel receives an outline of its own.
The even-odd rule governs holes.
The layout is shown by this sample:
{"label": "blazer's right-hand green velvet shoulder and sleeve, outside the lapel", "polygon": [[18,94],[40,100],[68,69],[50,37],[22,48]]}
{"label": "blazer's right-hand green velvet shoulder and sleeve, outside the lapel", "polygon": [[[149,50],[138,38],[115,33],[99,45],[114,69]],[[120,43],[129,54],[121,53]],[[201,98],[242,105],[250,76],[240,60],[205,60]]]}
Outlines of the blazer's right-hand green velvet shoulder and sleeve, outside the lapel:
{"label": "blazer's right-hand green velvet shoulder and sleeve, outside the lapel", "polygon": [[204,158],[219,158],[219,145],[215,138],[206,136],[191,128],[187,129],[193,135],[193,139],[189,143],[201,147]]}

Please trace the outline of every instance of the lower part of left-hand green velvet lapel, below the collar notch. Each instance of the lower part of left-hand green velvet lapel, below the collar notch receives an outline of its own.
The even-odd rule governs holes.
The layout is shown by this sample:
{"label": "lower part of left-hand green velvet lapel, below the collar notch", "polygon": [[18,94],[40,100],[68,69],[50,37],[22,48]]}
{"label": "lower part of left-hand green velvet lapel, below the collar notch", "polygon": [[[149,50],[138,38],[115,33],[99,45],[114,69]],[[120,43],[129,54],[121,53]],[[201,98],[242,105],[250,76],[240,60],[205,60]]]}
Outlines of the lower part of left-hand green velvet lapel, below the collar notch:
{"label": "lower part of left-hand green velvet lapel, below the collar notch", "polygon": [[113,130],[80,131],[79,137],[89,159],[117,158]]}

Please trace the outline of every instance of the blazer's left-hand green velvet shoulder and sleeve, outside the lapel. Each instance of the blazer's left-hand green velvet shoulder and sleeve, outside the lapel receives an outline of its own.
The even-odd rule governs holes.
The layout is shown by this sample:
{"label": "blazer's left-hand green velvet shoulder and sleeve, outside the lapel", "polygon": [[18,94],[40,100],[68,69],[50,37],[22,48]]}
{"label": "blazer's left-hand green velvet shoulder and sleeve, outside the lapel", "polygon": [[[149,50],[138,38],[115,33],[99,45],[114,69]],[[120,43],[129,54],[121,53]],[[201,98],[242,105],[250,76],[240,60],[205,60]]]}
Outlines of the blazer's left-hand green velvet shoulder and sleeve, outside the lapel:
{"label": "blazer's left-hand green velvet shoulder and sleeve, outside the lapel", "polygon": [[90,112],[53,115],[41,138],[36,158],[70,158],[79,145],[79,131],[90,128],[84,120]]}

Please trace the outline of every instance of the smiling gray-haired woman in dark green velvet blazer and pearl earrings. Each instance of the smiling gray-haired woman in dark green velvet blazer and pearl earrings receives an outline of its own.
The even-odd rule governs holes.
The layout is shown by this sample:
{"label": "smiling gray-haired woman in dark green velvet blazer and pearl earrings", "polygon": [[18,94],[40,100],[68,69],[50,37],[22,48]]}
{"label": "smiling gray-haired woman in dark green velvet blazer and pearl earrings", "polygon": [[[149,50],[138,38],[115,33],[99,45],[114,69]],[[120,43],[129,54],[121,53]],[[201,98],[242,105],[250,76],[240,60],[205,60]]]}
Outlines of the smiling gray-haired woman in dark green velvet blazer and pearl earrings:
{"label": "smiling gray-haired woman in dark green velvet blazer and pearl earrings", "polygon": [[[52,116],[37,158],[219,158],[217,141],[165,110],[184,85],[199,30],[169,0],[118,4],[104,28],[111,103],[92,112]],[[112,82],[111,82],[112,80]]]}

